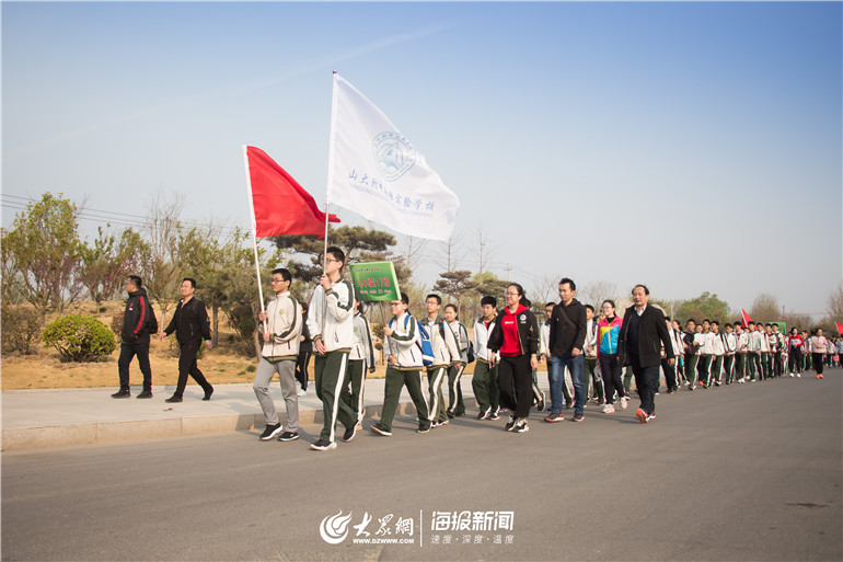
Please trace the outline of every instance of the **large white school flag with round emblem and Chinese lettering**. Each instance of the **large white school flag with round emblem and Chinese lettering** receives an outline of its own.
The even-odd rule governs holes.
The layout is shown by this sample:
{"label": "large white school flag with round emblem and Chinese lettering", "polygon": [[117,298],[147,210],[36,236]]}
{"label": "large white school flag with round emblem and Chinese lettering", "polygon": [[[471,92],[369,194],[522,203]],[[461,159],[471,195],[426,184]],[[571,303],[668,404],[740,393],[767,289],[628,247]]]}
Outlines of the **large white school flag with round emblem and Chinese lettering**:
{"label": "large white school flag with round emblem and Chinese lettering", "polygon": [[327,202],[405,234],[448,240],[460,199],[355,87],[334,74]]}

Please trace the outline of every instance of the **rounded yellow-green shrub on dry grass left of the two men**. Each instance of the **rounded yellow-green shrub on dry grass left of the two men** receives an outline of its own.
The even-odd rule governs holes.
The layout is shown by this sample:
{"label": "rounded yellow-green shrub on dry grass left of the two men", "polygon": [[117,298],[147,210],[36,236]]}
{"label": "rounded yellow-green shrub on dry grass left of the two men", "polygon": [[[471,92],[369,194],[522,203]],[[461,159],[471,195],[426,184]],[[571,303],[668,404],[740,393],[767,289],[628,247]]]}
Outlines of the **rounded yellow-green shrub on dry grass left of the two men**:
{"label": "rounded yellow-green shrub on dry grass left of the two men", "polygon": [[94,362],[107,357],[117,345],[114,333],[95,318],[68,314],[44,330],[44,343],[54,346],[65,362]]}

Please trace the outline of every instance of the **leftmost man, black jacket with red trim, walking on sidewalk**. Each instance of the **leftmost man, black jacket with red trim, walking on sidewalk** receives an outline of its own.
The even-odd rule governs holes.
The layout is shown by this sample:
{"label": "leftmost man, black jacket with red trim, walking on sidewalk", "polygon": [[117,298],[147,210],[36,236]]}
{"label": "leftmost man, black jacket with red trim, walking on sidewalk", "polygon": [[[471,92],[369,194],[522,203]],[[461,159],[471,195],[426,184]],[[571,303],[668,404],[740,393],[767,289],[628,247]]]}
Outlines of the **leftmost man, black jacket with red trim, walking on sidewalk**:
{"label": "leftmost man, black jacket with red trim, walking on sidewalk", "polygon": [[120,377],[120,390],[112,398],[129,398],[129,364],[138,356],[138,366],[143,374],[143,391],[138,398],[152,398],[152,368],[149,366],[149,334],[158,332],[158,320],[149,303],[147,289],[142,288],[140,277],[129,275],[126,290],[126,310],[123,313],[120,332],[120,358],[117,359],[117,372]]}

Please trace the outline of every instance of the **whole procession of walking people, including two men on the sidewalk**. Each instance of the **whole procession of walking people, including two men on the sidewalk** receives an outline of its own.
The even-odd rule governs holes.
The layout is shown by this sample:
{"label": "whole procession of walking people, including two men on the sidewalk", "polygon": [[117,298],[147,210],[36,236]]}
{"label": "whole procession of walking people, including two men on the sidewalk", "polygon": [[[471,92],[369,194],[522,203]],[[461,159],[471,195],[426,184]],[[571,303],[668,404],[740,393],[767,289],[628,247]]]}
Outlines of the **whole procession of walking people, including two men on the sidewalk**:
{"label": "whole procession of walking people, including two men on the sidewalk", "polygon": [[[315,393],[322,401],[323,427],[310,447],[320,451],[335,449],[337,423],[345,428],[345,443],[362,429],[366,377],[376,368],[374,345],[365,305],[355,298],[353,284],[343,277],[345,261],[340,249],[327,249],[325,272],[309,306],[299,303],[290,294],[289,271],[272,272],[274,296],[258,316],[263,348],[253,385],[266,422],[262,440],[299,438],[298,397],[308,391],[311,356]],[[130,299],[119,362],[120,391],[114,398],[130,395],[128,362],[135,354],[145,372],[143,393],[138,398],[151,397],[148,333],[140,343],[137,334],[154,331],[157,323],[140,285],[140,278],[129,278]],[[178,310],[188,310],[195,288],[194,279],[185,279]],[[478,405],[477,413],[472,415],[482,421],[508,415],[504,428],[526,433],[530,431],[533,409],[546,411],[542,414],[546,423],[564,421],[563,410],[573,410],[570,421],[582,422],[588,402],[594,403],[600,414],[611,415],[617,408],[626,410],[632,392],[636,392],[639,405],[635,416],[640,423],[649,423],[656,418],[655,397],[662,388],[667,393],[681,388],[693,391],[775,377],[801,377],[809,369],[822,379],[823,367],[839,365],[843,355],[843,339],[829,340],[821,329],[809,335],[794,328],[785,334],[776,323],[750,321],[746,325],[736,322],[720,326],[714,320],[689,319],[682,330],[677,320],[665,317],[660,308],[649,303],[645,285],[633,288],[633,306],[622,313],[613,300],[604,300],[596,310],[577,300],[576,294],[573,279],[561,279],[559,301],[544,306],[545,318],[540,322],[521,285],[510,283],[501,309],[495,296],[481,299],[482,316],[471,336],[460,322],[458,307],[442,308],[439,295],[426,297],[426,316],[416,319],[408,312],[409,298],[401,294],[389,302],[391,318],[383,326],[383,406],[370,431],[392,436],[392,423],[405,387],[416,409],[418,433],[469,415],[461,380],[472,363],[472,392]],[[164,332],[177,331],[183,352],[178,386],[168,402],[182,401],[188,375],[203,385],[205,400],[213,391],[196,367],[199,343],[205,339],[209,344],[210,335],[207,313],[200,318],[204,305],[195,299],[194,305],[189,321],[181,320],[188,318],[186,313],[176,313]],[[546,365],[550,397],[539,386],[542,363]],[[276,374],[285,401],[286,425],[281,424],[269,392]],[[446,383],[447,401],[442,389]]]}

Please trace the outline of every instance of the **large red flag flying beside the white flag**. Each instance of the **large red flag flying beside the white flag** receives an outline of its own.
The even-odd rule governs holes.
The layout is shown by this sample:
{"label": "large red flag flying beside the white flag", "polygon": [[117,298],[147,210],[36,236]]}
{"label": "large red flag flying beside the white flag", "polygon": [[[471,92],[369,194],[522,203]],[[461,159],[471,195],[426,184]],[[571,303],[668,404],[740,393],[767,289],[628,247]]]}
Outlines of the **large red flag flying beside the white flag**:
{"label": "large red flag flying beside the white flag", "polygon": [[[325,214],[313,197],[266,152],[246,147],[255,238],[280,234],[325,237]],[[339,222],[336,215],[331,222]]]}

